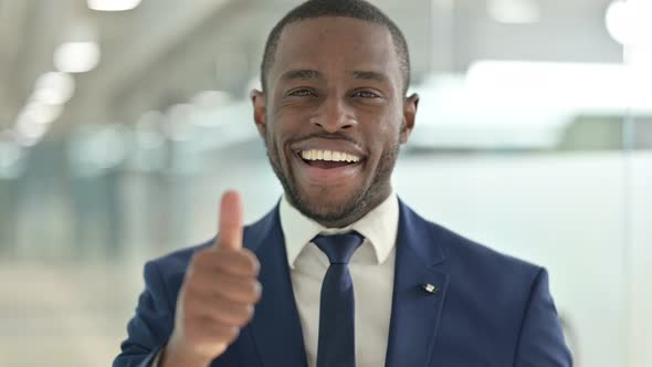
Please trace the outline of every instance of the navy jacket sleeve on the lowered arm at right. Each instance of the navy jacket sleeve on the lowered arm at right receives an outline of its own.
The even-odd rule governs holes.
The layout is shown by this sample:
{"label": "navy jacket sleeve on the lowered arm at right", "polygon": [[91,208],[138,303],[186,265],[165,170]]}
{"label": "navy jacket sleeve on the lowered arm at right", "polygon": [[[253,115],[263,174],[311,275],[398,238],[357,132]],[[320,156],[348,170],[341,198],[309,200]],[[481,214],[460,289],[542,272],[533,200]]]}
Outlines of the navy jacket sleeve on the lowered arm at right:
{"label": "navy jacket sleeve on the lowered arm at right", "polygon": [[548,290],[548,273],[540,269],[523,316],[514,366],[570,367],[571,360]]}

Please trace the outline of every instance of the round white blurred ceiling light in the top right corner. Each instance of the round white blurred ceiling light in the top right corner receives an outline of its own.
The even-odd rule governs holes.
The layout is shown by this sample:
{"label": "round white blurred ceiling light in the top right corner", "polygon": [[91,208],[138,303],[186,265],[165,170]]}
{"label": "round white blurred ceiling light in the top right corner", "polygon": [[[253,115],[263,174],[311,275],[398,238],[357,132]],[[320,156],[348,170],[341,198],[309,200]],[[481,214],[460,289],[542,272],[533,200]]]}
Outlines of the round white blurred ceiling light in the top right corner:
{"label": "round white blurred ceiling light in the top right corner", "polygon": [[607,8],[604,22],[609,34],[620,44],[651,46],[652,1],[613,1]]}

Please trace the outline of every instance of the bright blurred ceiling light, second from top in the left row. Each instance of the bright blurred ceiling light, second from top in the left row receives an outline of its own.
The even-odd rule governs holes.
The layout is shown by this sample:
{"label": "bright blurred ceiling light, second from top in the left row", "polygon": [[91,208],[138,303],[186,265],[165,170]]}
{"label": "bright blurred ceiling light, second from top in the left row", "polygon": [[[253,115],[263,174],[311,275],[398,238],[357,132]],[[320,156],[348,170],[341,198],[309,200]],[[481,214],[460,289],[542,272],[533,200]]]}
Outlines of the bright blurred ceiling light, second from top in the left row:
{"label": "bright blurred ceiling light, second from top in the left row", "polygon": [[66,42],[54,52],[54,66],[64,73],[85,73],[99,62],[99,46],[95,42]]}

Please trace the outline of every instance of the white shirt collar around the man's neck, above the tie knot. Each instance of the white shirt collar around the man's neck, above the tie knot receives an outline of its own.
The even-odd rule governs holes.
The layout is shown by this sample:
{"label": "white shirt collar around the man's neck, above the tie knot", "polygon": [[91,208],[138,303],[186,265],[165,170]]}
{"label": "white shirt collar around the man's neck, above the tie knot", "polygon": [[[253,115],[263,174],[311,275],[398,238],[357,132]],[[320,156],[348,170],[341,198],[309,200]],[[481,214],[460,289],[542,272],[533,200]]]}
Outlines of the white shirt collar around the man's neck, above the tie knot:
{"label": "white shirt collar around the man's neck, above the tie knot", "polygon": [[377,264],[382,264],[396,244],[399,226],[399,202],[392,190],[378,207],[374,208],[358,221],[338,229],[326,228],[294,208],[286,196],[280,205],[281,228],[285,238],[287,263],[294,269],[296,258],[315,235],[345,233],[351,230],[362,234],[365,243],[370,243],[376,254]]}

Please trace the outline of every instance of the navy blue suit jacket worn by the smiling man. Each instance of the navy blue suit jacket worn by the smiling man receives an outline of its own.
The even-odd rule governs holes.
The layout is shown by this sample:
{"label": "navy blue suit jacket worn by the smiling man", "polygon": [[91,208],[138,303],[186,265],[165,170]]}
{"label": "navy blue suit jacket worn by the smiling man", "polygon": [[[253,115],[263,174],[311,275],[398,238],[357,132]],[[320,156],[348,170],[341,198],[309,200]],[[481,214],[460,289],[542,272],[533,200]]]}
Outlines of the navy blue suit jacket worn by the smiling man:
{"label": "navy blue suit jacket worn by the smiling man", "polygon": [[[387,366],[571,365],[544,269],[428,222],[400,202]],[[278,207],[244,229],[261,262],[263,296],[251,323],[211,367],[304,367]],[[211,241],[212,242],[212,241]],[[145,265],[146,289],[114,367],[149,366],[167,343],[192,253]],[[421,286],[435,285],[437,293]]]}

